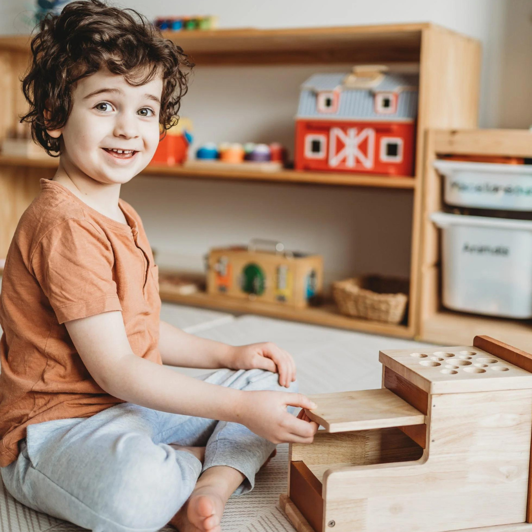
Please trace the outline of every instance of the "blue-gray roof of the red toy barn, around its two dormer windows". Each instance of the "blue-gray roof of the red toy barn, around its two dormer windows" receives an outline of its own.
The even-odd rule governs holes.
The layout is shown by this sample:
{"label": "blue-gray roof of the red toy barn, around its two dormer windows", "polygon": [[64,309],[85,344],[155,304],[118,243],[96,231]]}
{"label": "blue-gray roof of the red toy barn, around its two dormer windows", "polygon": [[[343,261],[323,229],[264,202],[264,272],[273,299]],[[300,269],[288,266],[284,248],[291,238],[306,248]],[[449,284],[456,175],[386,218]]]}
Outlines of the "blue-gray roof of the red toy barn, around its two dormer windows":
{"label": "blue-gray roof of the red toy barn, around its two dormer windows", "polygon": [[[353,118],[388,121],[390,119],[412,120],[416,117],[418,111],[417,74],[386,73],[383,80],[370,89],[343,87],[346,76],[345,72],[314,74],[307,79],[301,86],[297,118]],[[336,113],[318,112],[316,107],[317,93],[321,90],[334,89],[340,91],[338,111]],[[379,114],[375,112],[374,94],[380,91],[398,93],[396,113]]]}

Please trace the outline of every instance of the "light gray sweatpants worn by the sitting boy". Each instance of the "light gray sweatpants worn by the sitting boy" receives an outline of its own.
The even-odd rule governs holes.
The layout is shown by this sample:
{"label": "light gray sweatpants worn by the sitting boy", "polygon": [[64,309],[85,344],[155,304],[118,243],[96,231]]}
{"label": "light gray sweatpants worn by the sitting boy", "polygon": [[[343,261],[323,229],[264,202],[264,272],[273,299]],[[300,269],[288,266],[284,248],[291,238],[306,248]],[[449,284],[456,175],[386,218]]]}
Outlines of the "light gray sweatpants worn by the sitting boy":
{"label": "light gray sweatpants worn by the sitting boy", "polygon": [[[218,370],[200,379],[241,390],[296,391],[264,370]],[[292,411],[292,407],[289,407]],[[205,462],[170,443],[206,445]],[[121,403],[90,418],[30,425],[18,459],[0,468],[7,491],[34,510],[94,532],[153,532],[181,508],[201,472],[229,465],[253,489],[275,445],[238,423]]]}

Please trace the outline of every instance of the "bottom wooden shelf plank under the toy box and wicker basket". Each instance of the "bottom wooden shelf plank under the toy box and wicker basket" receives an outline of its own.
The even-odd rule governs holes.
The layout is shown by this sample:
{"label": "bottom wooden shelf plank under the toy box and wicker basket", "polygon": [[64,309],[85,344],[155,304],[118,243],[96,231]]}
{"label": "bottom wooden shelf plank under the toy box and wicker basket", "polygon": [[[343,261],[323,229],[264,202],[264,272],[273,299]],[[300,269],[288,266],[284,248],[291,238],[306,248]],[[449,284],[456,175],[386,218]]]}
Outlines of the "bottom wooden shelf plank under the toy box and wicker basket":
{"label": "bottom wooden shelf plank under the toy box and wicker basket", "polygon": [[324,327],[358,330],[385,336],[413,337],[413,330],[410,327],[351,318],[340,314],[334,303],[327,303],[319,307],[308,307],[306,309],[293,309],[281,304],[248,301],[227,296],[215,296],[205,292],[182,295],[171,284],[164,282],[160,284],[160,296],[163,301],[179,303],[181,305],[199,306],[207,309],[226,310],[236,313],[260,314],[281,320],[300,321],[313,323],[314,325],[322,325]]}

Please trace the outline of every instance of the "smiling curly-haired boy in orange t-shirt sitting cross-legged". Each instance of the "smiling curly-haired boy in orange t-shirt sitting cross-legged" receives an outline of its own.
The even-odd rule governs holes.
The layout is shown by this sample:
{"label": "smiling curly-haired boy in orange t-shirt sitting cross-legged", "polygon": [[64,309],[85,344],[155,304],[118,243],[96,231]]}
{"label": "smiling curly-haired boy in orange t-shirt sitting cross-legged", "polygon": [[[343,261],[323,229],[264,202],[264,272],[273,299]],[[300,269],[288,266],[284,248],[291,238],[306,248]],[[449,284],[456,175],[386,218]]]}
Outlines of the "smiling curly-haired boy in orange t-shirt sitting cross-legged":
{"label": "smiling curly-haired boy in orange t-shirt sitting cross-legged", "polygon": [[[315,405],[289,393],[286,351],[159,320],[157,266],[120,186],[151,160],[193,64],[142,15],[97,0],[48,16],[31,49],[22,120],[60,160],[6,257],[3,481],[31,508],[97,532],[169,521],[218,532],[228,497],[253,488],[275,444],[310,443],[317,425],[287,411]],[[229,369],[193,379],[163,363]]]}

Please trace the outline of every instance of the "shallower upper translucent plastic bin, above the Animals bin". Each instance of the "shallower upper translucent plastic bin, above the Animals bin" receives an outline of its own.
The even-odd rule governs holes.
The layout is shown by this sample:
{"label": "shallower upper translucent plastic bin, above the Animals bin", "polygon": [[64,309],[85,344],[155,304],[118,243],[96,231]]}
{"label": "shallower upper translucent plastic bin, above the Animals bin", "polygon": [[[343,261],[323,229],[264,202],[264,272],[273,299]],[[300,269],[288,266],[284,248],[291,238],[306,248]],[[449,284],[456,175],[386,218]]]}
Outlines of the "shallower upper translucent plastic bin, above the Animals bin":
{"label": "shallower upper translucent plastic bin, above the Animals bin", "polygon": [[444,201],[456,207],[532,211],[532,165],[434,161]]}

